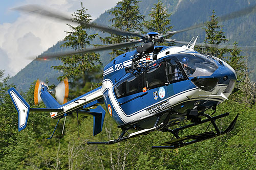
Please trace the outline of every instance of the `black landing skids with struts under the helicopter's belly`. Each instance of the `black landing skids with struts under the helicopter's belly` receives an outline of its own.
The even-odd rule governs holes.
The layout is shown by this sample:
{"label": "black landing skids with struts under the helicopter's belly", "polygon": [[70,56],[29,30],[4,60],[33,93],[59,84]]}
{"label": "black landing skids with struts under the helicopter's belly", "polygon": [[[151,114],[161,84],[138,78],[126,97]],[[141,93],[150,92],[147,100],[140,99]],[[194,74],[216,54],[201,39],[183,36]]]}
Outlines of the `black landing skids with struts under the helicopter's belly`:
{"label": "black landing skids with struts under the helicopter's belly", "polygon": [[[160,125],[158,125],[160,118],[164,114],[167,114],[164,122],[161,123]],[[210,138],[220,136],[220,135],[223,135],[223,134],[226,134],[226,133],[230,132],[233,129],[234,125],[236,124],[237,118],[238,118],[238,115],[239,115],[238,114],[233,119],[233,121],[229,125],[229,127],[225,131],[222,132],[217,127],[217,125],[215,123],[215,120],[219,119],[219,118],[222,118],[222,117],[225,117],[225,116],[228,116],[229,113],[224,113],[224,114],[221,114],[221,115],[218,115],[218,116],[215,116],[215,117],[211,117],[208,114],[203,114],[202,116],[207,117],[207,119],[202,120],[200,123],[193,123],[193,124],[186,125],[186,126],[174,129],[174,130],[167,128],[168,127],[167,123],[168,123],[168,120],[169,120],[171,114],[172,114],[172,110],[167,110],[167,111],[159,112],[158,114],[154,115],[154,116],[157,116],[158,118],[157,118],[155,126],[153,128],[143,129],[143,130],[140,130],[138,132],[134,132],[134,133],[130,134],[128,132],[128,130],[132,129],[133,125],[139,122],[139,120],[136,120],[136,121],[131,122],[131,123],[126,123],[126,124],[120,125],[119,128],[122,129],[122,132],[121,132],[120,136],[115,140],[88,141],[87,144],[114,144],[114,143],[118,143],[120,141],[125,141],[125,140],[128,140],[128,139],[131,139],[131,138],[136,137],[136,136],[140,136],[140,135],[150,133],[150,132],[155,131],[155,130],[160,130],[160,131],[163,131],[163,132],[172,133],[176,139],[172,139],[170,141],[162,143],[163,146],[153,146],[152,149],[176,149],[176,148],[184,147],[188,144],[196,143],[196,142],[199,142],[199,141],[202,141],[202,140],[210,139]],[[180,130],[187,129],[187,128],[190,128],[190,127],[193,127],[193,126],[196,126],[196,125],[199,125],[199,124],[203,124],[203,123],[206,123],[206,122],[211,122],[211,124],[214,126],[216,132],[204,132],[204,133],[200,133],[200,134],[187,135],[187,136],[183,136],[183,137],[180,137],[178,135],[178,132]],[[125,135],[126,133],[127,133],[127,135]],[[184,142],[186,140],[190,140],[190,141]]]}

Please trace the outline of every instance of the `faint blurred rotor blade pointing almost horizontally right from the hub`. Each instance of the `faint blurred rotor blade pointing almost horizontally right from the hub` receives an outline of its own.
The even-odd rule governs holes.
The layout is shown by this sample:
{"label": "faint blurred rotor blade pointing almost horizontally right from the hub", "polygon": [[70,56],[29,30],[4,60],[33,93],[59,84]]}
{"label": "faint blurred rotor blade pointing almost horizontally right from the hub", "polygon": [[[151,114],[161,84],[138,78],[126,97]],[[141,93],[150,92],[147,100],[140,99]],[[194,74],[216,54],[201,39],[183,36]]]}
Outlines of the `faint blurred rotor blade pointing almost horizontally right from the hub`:
{"label": "faint blurred rotor blade pointing almost horizontally right from the hub", "polygon": [[[188,41],[175,41],[180,44],[188,44]],[[208,44],[208,43],[196,43],[197,46],[204,46],[204,47],[215,47],[215,48],[228,48],[232,49],[233,45],[225,45],[225,44]],[[238,48],[241,48],[242,50],[256,50],[256,46],[245,46],[245,45],[237,45]]]}

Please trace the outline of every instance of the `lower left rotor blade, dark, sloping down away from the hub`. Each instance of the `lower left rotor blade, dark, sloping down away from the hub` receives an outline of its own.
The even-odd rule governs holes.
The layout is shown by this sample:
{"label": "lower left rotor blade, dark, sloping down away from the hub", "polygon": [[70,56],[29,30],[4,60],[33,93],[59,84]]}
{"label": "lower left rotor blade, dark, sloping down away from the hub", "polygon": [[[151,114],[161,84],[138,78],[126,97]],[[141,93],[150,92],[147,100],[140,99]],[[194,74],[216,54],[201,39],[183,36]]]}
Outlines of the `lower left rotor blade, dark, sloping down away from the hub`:
{"label": "lower left rotor blade, dark, sloping down away from the hub", "polygon": [[132,44],[139,43],[139,42],[141,42],[141,41],[134,40],[134,41],[121,42],[121,43],[116,43],[116,44],[111,44],[111,45],[101,45],[101,46],[87,48],[87,49],[79,50],[79,51],[72,50],[72,51],[57,52],[57,53],[45,53],[44,55],[41,55],[36,59],[37,60],[48,60],[48,59],[52,59],[52,58],[56,58],[56,57],[65,57],[65,56],[76,55],[76,54],[85,54],[85,53],[97,52],[97,51],[103,51],[103,50],[112,50],[115,48],[127,47]]}

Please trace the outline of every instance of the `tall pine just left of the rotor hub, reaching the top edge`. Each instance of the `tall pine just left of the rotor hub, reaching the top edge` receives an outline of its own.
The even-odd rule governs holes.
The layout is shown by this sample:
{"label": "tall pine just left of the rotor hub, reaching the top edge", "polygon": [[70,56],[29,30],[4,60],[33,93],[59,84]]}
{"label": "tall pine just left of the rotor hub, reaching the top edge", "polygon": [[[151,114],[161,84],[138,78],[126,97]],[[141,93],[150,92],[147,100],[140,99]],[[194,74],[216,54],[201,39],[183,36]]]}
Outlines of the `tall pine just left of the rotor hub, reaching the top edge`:
{"label": "tall pine just left of the rotor hub, reaching the top edge", "polygon": [[[142,31],[141,21],[144,20],[144,16],[140,15],[139,12],[139,2],[136,0],[123,0],[117,3],[117,6],[109,11],[110,14],[114,15],[114,18],[111,19],[113,23],[113,27],[124,30],[124,31]],[[114,44],[120,42],[129,41],[129,36],[119,36],[115,34],[111,34],[109,37],[101,38],[103,43],[106,44]],[[112,50],[113,58],[128,52],[133,47],[126,47],[121,49]]]}

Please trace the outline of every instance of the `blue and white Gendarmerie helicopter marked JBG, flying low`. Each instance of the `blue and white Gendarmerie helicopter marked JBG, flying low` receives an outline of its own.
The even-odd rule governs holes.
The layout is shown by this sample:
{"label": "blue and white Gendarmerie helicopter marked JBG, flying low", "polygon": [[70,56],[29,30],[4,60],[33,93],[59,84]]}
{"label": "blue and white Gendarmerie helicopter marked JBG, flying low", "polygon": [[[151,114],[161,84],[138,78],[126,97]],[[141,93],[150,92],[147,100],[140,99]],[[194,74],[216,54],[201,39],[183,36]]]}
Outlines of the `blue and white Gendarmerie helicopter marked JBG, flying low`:
{"label": "blue and white Gendarmerie helicopter marked JBG, flying low", "polygon": [[[219,18],[224,21],[252,12],[255,6],[236,11]],[[35,12],[44,16],[70,21],[36,5],[16,8],[23,12]],[[47,108],[30,108],[29,104],[12,87],[8,90],[18,112],[18,131],[26,128],[29,112],[49,112],[51,118],[58,119],[56,127],[48,139],[52,138],[59,120],[71,114],[93,116],[93,135],[102,131],[106,112],[121,129],[120,135],[109,141],[88,141],[88,144],[114,144],[152,131],[169,132],[174,137],[153,149],[176,149],[230,132],[237,122],[238,115],[224,131],[216,120],[229,113],[212,117],[216,107],[228,100],[237,81],[236,71],[225,61],[210,54],[200,54],[194,50],[197,37],[183,46],[155,45],[155,42],[180,42],[168,39],[169,35],[202,27],[192,26],[180,31],[160,34],[149,32],[145,35],[113,29],[106,26],[88,24],[100,31],[139,37],[128,42],[102,45],[79,51],[67,51],[40,56],[37,60],[49,60],[72,54],[83,54],[113,48],[121,48],[136,43],[136,50],[124,53],[103,69],[102,85],[65,104],[59,104],[49,93],[48,86],[41,83],[35,91]],[[194,41],[193,41],[194,40]],[[193,41],[193,42],[192,42]],[[100,104],[104,104],[105,111]],[[206,114],[212,110],[211,115]],[[190,120],[191,124],[174,129],[176,125]],[[214,131],[179,136],[181,130],[209,122]]]}

